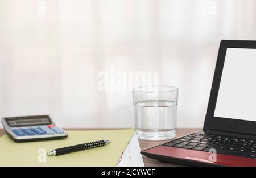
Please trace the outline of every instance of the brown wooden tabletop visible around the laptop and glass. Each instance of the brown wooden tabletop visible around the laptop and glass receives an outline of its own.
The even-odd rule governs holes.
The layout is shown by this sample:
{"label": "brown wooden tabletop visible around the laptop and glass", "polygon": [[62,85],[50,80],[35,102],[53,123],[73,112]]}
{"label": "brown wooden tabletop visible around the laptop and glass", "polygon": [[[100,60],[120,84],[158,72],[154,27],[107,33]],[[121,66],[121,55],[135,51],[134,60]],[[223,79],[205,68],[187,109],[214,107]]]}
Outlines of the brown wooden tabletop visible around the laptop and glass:
{"label": "brown wooden tabletop visible around the laptop and glass", "polygon": [[[187,135],[190,133],[195,133],[196,131],[200,131],[200,130],[201,129],[177,129],[177,137],[176,138],[179,138],[181,136],[184,136],[184,135]],[[0,136],[2,136],[3,134],[5,134],[5,131],[3,129],[0,129]],[[165,143],[165,142],[168,142],[168,140],[158,141],[158,142],[139,140],[139,146],[141,146],[141,150],[145,150],[146,148],[154,147],[154,146],[157,146],[157,145]],[[145,166],[153,166],[153,167],[154,166],[168,166],[168,167],[180,166],[178,164],[160,162],[158,160],[147,158],[146,156],[143,156],[143,161],[144,161]]]}

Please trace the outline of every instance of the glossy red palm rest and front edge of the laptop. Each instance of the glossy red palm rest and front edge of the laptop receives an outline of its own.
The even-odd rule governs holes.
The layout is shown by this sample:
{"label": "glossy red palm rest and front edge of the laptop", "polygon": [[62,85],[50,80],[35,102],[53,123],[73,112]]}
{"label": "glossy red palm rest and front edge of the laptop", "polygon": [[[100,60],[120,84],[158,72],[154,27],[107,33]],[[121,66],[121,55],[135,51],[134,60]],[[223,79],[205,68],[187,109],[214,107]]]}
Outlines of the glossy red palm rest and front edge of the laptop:
{"label": "glossy red palm rest and front edge of the laptop", "polygon": [[162,160],[193,166],[238,166],[238,167],[255,167],[256,159],[242,158],[238,156],[216,154],[216,162],[210,161],[211,153],[204,151],[188,150],[169,146],[156,146],[144,150],[142,155],[148,158]]}

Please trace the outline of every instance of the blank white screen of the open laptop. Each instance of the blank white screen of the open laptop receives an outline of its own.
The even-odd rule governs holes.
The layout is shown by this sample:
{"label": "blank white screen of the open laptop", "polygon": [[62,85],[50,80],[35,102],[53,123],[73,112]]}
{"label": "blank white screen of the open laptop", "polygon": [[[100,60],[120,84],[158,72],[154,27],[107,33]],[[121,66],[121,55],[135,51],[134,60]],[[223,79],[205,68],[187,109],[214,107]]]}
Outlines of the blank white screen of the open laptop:
{"label": "blank white screen of the open laptop", "polygon": [[256,121],[256,49],[227,48],[214,117]]}

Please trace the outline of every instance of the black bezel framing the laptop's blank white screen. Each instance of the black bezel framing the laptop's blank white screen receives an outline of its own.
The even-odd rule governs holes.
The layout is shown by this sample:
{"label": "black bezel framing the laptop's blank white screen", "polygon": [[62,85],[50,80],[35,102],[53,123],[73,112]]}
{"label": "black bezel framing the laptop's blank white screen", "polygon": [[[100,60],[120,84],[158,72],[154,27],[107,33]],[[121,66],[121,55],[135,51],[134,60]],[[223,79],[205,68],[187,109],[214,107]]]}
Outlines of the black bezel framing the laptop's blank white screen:
{"label": "black bezel framing the laptop's blank white screen", "polygon": [[[241,134],[256,135],[256,122],[244,121],[233,118],[214,117],[216,107],[218,90],[220,88],[222,71],[225,63],[226,49],[227,48],[256,48],[256,41],[245,40],[222,40],[218,51],[217,63],[213,77],[212,89],[207,108],[207,114],[204,122],[204,131],[219,130],[229,131]],[[256,78],[256,76],[255,76]],[[256,115],[255,115],[256,117]]]}

